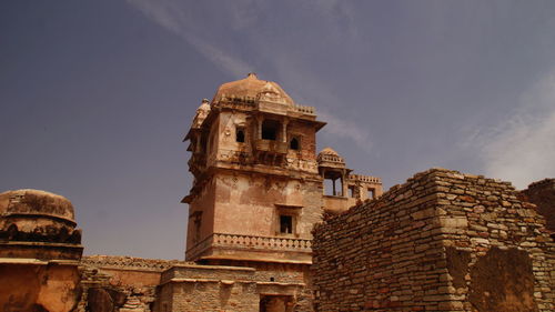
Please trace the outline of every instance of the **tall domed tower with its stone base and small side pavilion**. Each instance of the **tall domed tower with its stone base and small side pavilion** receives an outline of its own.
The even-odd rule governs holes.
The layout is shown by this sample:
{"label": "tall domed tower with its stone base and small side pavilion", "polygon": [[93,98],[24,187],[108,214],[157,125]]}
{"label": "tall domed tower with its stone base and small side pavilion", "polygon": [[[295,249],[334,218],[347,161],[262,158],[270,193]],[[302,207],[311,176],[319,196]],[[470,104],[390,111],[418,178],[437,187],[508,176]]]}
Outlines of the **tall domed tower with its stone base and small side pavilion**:
{"label": "tall domed tower with its stone base and small side pavilion", "polygon": [[[314,108],[296,104],[278,83],[254,73],[222,84],[212,101],[202,102],[185,137],[194,175],[183,199],[185,259],[215,266],[164,273],[163,305],[193,309],[184,298],[203,284],[229,292],[241,311],[312,311],[314,223],[326,210],[341,212],[369,192],[382,192],[379,178],[351,174],[332,149],[316,157],[316,132],[324,124]],[[229,282],[218,282],[219,275]]]}

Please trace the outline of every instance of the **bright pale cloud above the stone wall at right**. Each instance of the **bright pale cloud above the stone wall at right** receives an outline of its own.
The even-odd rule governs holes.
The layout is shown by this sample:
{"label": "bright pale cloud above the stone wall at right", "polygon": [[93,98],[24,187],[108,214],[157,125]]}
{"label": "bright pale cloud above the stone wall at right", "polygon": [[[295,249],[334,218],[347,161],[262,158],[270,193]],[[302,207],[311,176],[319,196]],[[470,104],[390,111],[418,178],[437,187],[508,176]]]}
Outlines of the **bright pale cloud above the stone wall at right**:
{"label": "bright pale cloud above the stone wall at right", "polygon": [[470,131],[466,147],[477,148],[487,175],[523,189],[555,177],[555,71],[525,91],[519,101],[501,124]]}

